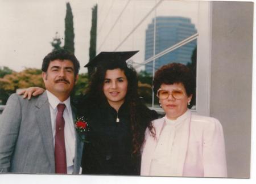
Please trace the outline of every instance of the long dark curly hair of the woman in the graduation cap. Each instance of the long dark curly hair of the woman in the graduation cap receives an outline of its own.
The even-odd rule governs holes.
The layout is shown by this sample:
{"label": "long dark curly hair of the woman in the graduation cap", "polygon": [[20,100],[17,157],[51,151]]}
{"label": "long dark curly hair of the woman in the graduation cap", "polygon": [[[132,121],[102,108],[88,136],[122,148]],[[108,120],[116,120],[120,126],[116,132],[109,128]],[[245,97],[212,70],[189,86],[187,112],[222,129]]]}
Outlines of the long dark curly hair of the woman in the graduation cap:
{"label": "long dark curly hair of the woman in the graduation cap", "polygon": [[86,91],[86,97],[88,101],[92,101],[97,104],[101,104],[106,100],[103,92],[103,85],[105,74],[107,70],[121,69],[124,71],[128,81],[127,93],[125,101],[130,110],[130,122],[131,132],[133,135],[133,155],[139,155],[142,144],[144,142],[144,131],[148,127],[152,135],[155,135],[154,128],[152,126],[152,114],[150,110],[138,100],[138,76],[137,72],[131,66],[127,66],[126,63],[118,63],[116,61],[109,61],[108,63],[97,66],[96,71],[91,77],[89,87]]}

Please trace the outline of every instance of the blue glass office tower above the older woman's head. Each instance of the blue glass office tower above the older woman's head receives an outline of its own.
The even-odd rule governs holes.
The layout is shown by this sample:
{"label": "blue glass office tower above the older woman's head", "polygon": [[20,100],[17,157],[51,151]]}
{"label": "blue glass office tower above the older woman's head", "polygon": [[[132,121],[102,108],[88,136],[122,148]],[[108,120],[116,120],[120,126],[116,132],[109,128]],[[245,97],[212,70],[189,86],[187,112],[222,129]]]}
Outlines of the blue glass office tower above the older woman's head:
{"label": "blue glass office tower above the older woman's head", "polygon": [[[156,33],[155,33],[155,54],[170,48],[178,42],[194,35],[197,32],[195,24],[191,23],[191,19],[180,16],[158,16],[156,17]],[[187,65],[191,62],[193,50],[196,48],[196,40],[189,42],[173,50],[172,52],[155,59],[155,70],[167,63],[179,62]],[[154,19],[148,24],[146,29],[145,44],[145,61],[154,54]],[[152,74],[153,62],[149,62],[145,66],[146,72]]]}

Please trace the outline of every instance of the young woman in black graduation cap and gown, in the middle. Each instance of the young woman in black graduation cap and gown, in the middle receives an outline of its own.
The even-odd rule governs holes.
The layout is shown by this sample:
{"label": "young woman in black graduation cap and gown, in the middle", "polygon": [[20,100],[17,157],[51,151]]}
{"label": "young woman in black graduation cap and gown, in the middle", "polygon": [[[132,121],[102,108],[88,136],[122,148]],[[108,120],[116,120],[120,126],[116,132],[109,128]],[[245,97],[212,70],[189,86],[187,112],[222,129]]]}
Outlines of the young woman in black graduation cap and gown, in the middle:
{"label": "young woman in black graduation cap and gown, in the middle", "polygon": [[144,131],[148,128],[154,133],[151,120],[157,114],[139,99],[137,73],[125,62],[135,53],[100,53],[85,66],[96,66],[96,72],[78,108],[90,126],[83,174],[140,173]]}

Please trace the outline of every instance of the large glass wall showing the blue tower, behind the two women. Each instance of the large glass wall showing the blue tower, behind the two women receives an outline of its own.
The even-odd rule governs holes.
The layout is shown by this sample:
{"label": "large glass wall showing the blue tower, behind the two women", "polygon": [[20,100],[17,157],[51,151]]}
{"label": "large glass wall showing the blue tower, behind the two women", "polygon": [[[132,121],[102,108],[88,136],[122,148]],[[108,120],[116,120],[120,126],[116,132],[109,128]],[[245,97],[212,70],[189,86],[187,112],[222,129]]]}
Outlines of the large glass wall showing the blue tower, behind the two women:
{"label": "large glass wall showing the blue tower, behind the two women", "polygon": [[[200,3],[98,1],[97,53],[139,50],[128,62],[138,71],[139,93],[151,108],[161,111],[151,87],[159,67],[179,62],[196,76]],[[195,99],[192,109],[196,109]]]}

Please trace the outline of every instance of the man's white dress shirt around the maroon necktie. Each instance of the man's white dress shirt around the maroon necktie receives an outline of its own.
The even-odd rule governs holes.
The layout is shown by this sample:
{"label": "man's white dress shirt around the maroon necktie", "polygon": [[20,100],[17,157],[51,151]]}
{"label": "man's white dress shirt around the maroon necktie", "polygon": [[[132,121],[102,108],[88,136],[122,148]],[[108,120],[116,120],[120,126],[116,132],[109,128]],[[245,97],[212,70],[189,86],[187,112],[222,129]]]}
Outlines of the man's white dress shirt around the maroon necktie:
{"label": "man's white dress shirt around the maroon necktie", "polygon": [[63,112],[63,118],[65,120],[64,136],[65,136],[65,149],[66,149],[66,159],[67,159],[67,173],[73,173],[74,158],[75,158],[75,126],[73,123],[72,109],[70,103],[70,97],[61,102],[55,95],[47,91],[47,97],[49,100],[49,108],[51,112],[51,123],[52,123],[52,133],[53,133],[53,145],[55,145],[55,127],[56,127],[56,115],[57,115],[57,105],[65,104],[66,108]]}

